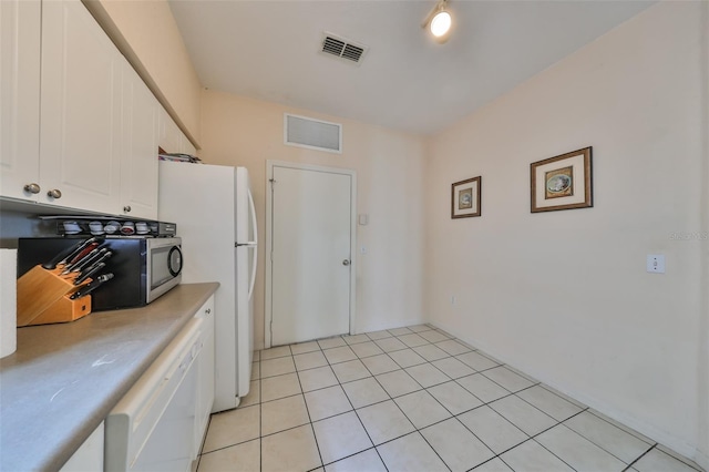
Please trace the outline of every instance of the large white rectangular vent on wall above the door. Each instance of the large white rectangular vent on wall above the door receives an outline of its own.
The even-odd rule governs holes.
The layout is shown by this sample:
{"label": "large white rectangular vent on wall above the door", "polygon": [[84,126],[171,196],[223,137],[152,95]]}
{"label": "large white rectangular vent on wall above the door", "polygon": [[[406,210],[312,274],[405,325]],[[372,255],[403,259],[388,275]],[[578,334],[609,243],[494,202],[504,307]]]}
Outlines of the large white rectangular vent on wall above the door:
{"label": "large white rectangular vent on wall above the door", "polygon": [[285,114],[284,142],[329,153],[342,153],[342,125]]}

